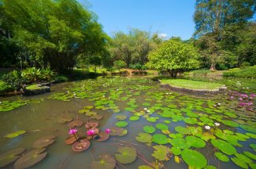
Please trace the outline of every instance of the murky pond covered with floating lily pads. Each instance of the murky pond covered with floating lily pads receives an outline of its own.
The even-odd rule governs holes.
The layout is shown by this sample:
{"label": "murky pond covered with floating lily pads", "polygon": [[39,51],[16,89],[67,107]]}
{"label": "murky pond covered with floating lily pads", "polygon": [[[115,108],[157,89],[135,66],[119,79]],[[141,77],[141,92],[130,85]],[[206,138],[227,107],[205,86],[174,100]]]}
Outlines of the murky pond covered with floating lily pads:
{"label": "murky pond covered with floating lily pads", "polygon": [[[40,156],[44,149],[38,150],[30,161],[19,161],[20,167],[13,162],[5,168],[39,160],[31,168],[256,168],[255,95],[250,93],[182,94],[148,77],[98,77],[53,85],[51,91],[0,98],[0,154],[19,147],[27,153],[42,147],[36,146],[39,138],[54,135],[41,140],[52,143],[45,146],[47,153]],[[98,121],[104,136],[74,152],[65,143],[71,119],[83,122],[77,127],[80,138],[88,138],[88,121]],[[110,137],[100,142],[108,128]],[[13,156],[0,155],[0,166],[6,159]]]}

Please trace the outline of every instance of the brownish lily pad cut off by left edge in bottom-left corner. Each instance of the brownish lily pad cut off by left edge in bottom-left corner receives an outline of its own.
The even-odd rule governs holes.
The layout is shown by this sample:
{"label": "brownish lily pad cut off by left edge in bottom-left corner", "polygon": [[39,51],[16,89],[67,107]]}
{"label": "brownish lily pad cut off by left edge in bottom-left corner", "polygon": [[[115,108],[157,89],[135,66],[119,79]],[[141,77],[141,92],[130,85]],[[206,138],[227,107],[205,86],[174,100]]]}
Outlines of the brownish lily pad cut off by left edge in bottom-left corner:
{"label": "brownish lily pad cut off by left edge in bottom-left corner", "polygon": [[20,158],[19,154],[23,153],[24,151],[25,148],[17,148],[3,153],[0,155],[0,167],[5,167],[6,165],[13,163],[13,161],[16,161],[18,158]]}

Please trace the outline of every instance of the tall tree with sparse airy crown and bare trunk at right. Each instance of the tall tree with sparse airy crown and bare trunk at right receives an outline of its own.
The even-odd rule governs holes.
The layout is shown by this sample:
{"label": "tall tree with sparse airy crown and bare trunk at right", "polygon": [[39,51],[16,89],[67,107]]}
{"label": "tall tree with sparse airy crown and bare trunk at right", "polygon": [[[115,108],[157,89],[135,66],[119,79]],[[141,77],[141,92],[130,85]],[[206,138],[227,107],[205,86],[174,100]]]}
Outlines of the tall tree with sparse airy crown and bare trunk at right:
{"label": "tall tree with sparse airy crown and bare trunk at right", "polygon": [[254,0],[196,0],[195,36],[199,38],[199,47],[204,47],[202,54],[210,57],[210,70],[215,70],[218,60],[225,56],[221,32],[230,24],[243,27],[254,15],[255,6]]}

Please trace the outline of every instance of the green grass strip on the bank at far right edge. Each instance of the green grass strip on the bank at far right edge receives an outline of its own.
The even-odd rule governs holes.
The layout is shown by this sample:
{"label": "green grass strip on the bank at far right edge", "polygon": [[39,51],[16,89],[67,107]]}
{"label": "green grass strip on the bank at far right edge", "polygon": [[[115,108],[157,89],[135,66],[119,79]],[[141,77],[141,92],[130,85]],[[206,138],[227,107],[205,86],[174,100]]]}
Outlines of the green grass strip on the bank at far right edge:
{"label": "green grass strip on the bank at far right edge", "polygon": [[225,77],[256,77],[256,66],[254,67],[244,67],[244,68],[234,68],[223,72]]}

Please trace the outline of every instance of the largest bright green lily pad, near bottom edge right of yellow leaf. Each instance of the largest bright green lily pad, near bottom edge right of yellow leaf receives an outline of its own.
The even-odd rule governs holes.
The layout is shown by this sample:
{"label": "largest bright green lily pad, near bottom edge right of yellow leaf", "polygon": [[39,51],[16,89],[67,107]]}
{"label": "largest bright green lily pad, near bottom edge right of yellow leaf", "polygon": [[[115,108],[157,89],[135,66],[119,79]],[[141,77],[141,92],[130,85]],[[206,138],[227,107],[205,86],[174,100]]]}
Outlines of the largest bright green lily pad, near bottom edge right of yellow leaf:
{"label": "largest bright green lily pad, near bottom edge right of yellow leaf", "polygon": [[202,153],[199,153],[196,150],[184,149],[181,152],[182,159],[190,167],[203,168],[207,166],[207,159],[203,156]]}

